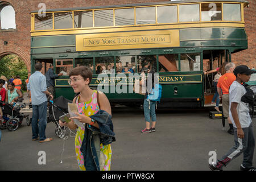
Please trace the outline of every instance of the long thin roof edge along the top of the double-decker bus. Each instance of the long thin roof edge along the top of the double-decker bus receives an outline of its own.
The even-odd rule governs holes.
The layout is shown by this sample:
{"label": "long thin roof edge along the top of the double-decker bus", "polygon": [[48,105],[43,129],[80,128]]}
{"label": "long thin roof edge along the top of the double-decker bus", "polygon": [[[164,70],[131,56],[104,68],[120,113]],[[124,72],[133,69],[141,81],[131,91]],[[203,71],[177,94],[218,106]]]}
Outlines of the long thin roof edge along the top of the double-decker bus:
{"label": "long thin roof edge along the top of the double-decker bus", "polygon": [[[90,9],[107,9],[107,8],[118,8],[118,7],[131,7],[131,6],[150,6],[150,5],[171,5],[178,3],[195,3],[195,2],[242,2],[249,4],[246,0],[224,0],[224,1],[213,1],[213,0],[180,0],[180,1],[169,1],[169,2],[154,2],[154,3],[137,3],[137,4],[126,4],[126,5],[112,5],[112,6],[88,6],[88,7],[75,7],[66,9],[47,9],[46,12],[52,11],[74,11],[74,10],[90,10]],[[38,10],[31,11],[31,13],[38,13]]]}

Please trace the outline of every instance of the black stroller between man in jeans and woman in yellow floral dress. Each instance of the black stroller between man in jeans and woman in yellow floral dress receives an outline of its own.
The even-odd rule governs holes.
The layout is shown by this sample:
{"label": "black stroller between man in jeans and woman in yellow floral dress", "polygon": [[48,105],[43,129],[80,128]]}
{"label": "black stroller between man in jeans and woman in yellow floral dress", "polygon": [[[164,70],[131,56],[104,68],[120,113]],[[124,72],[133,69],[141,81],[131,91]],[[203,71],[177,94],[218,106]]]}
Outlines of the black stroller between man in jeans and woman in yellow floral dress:
{"label": "black stroller between man in jeans and woman in yellow floral dress", "polygon": [[63,96],[57,97],[53,101],[48,101],[49,116],[47,117],[47,122],[55,123],[55,134],[59,138],[65,137],[65,133],[68,129],[68,127],[60,127],[59,125],[60,116],[68,113],[68,102],[72,103],[72,101],[67,100],[67,98]]}

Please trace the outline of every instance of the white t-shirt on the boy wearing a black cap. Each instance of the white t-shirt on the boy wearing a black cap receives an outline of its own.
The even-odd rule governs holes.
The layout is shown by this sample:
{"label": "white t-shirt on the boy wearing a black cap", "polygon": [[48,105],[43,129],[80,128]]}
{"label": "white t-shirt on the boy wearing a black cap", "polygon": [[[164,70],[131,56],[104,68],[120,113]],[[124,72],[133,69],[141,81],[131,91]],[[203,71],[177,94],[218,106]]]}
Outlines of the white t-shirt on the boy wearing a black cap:
{"label": "white t-shirt on the boy wearing a black cap", "polygon": [[242,102],[241,98],[246,93],[246,89],[237,81],[234,81],[229,88],[229,117],[233,123],[233,126],[236,127],[234,123],[234,119],[232,117],[232,113],[230,111],[231,103],[236,102],[237,105],[237,113],[238,119],[240,121],[240,125],[242,128],[249,127],[251,124],[251,117],[249,113],[249,104]]}

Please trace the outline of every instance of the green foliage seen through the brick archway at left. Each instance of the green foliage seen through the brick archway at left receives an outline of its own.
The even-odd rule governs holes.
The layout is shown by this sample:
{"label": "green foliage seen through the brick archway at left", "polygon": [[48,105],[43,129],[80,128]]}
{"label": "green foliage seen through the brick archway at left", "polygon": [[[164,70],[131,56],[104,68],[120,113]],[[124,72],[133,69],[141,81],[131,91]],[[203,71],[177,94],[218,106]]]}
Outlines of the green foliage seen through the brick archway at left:
{"label": "green foliage seen through the brick archway at left", "polygon": [[0,76],[8,80],[13,76],[20,76],[22,84],[27,79],[27,67],[23,60],[16,55],[7,55],[0,60]]}

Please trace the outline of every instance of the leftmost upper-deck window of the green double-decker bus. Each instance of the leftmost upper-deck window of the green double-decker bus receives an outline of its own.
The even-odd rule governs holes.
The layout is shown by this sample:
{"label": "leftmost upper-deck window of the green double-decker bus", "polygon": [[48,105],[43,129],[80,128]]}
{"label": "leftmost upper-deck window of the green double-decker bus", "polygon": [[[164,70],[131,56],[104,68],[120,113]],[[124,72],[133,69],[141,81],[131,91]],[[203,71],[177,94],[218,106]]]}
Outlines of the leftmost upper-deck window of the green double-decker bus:
{"label": "leftmost upper-deck window of the green double-decker bus", "polygon": [[35,14],[35,30],[51,30],[52,13],[46,13],[46,16]]}

